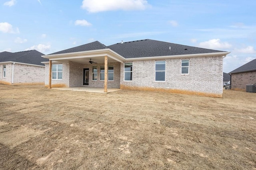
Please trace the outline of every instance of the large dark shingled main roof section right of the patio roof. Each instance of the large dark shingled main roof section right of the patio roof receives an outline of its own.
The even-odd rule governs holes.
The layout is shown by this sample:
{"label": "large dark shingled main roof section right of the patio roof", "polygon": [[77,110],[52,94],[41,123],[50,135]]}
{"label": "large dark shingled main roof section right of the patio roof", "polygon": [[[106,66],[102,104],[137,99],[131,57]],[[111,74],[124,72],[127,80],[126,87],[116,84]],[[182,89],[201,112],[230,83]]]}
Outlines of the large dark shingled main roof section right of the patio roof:
{"label": "large dark shingled main roof section right of the patio roof", "polygon": [[112,49],[126,59],[138,57],[157,57],[169,55],[189,55],[225,52],[212,49],[191,47],[187,45],[167,43],[164,41],[156,41],[152,39],[117,43],[108,46],[108,48]]}

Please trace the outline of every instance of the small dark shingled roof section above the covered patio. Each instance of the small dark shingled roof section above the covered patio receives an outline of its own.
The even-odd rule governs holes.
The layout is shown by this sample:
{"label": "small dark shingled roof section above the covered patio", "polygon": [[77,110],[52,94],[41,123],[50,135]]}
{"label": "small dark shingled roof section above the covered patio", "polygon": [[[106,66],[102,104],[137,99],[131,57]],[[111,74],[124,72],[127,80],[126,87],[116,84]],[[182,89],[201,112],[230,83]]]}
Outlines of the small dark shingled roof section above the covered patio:
{"label": "small dark shingled roof section above the covered patio", "polygon": [[54,54],[64,54],[64,53],[74,53],[74,52],[80,52],[80,51],[90,51],[90,50],[99,50],[99,49],[107,49],[106,45],[100,43],[99,41],[94,41],[92,43],[80,45],[78,47],[73,47],[70,49],[58,51],[56,53],[52,53],[49,55],[54,55]]}

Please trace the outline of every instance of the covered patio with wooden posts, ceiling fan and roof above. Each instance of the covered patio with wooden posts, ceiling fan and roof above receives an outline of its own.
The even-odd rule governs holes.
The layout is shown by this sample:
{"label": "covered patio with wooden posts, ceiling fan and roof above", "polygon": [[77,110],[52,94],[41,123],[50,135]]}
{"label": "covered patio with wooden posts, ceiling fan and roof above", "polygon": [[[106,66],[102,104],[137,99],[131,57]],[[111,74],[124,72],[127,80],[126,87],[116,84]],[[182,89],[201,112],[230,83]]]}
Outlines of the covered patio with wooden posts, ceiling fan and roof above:
{"label": "covered patio with wooden posts, ceiling fan and roof above", "polygon": [[[103,92],[106,93],[112,92],[111,88],[120,87],[120,64],[125,59],[97,41],[42,57],[49,59],[44,63],[48,68],[48,88],[89,92],[102,92],[104,88]],[[58,64],[62,64],[60,71],[56,68]],[[55,75],[52,75],[53,72]],[[60,78],[56,78],[56,72],[60,72]],[[112,77],[108,78],[108,75]]]}

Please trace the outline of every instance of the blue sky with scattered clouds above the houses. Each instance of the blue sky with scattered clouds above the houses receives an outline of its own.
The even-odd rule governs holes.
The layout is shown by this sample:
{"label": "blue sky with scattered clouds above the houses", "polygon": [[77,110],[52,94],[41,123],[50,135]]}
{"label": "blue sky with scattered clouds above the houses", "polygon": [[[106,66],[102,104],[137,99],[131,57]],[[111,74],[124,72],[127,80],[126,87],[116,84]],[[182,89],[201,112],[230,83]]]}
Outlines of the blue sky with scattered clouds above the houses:
{"label": "blue sky with scattered clouds above the houses", "polygon": [[154,39],[230,51],[230,72],[256,59],[255,8],[255,0],[0,0],[0,51]]}

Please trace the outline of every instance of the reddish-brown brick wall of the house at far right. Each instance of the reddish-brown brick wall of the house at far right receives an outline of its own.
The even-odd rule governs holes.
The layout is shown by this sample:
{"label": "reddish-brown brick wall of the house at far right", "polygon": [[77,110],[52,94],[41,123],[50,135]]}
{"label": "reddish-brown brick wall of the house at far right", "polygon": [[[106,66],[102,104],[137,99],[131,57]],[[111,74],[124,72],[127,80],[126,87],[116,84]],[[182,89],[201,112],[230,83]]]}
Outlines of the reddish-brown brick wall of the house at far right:
{"label": "reddish-brown brick wall of the house at far right", "polygon": [[231,87],[246,90],[246,84],[256,84],[256,71],[231,74]]}

